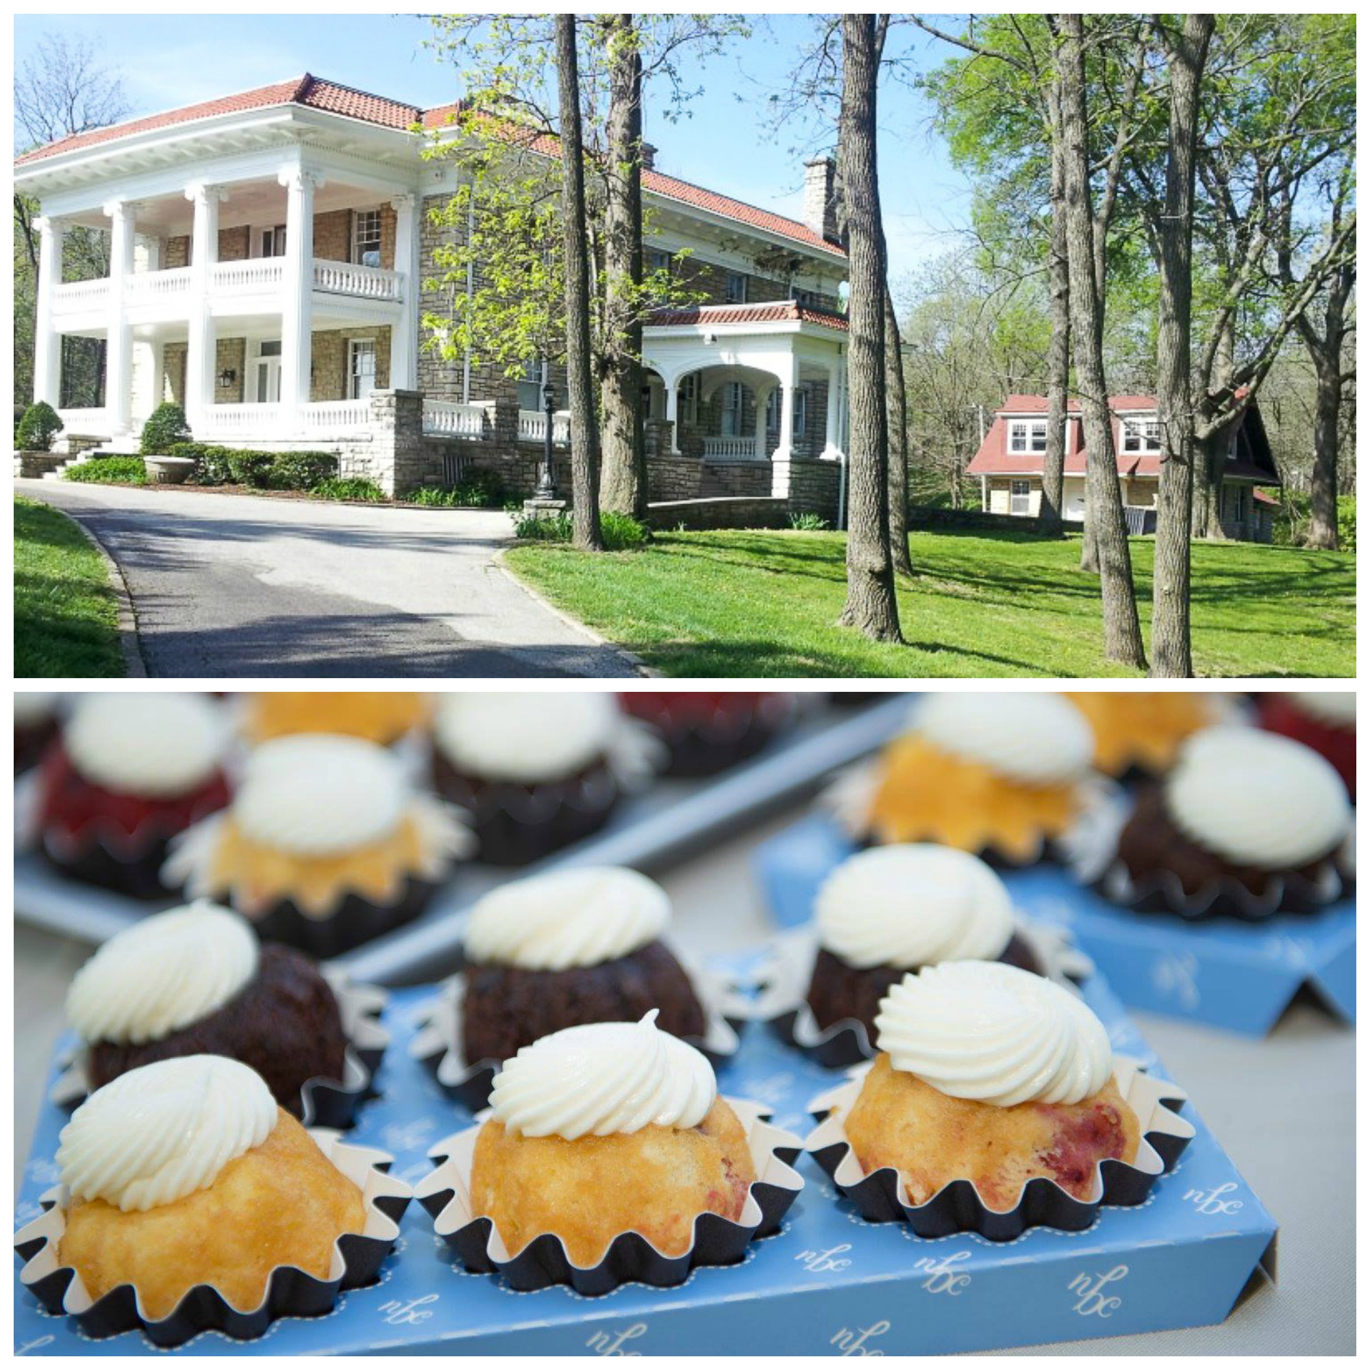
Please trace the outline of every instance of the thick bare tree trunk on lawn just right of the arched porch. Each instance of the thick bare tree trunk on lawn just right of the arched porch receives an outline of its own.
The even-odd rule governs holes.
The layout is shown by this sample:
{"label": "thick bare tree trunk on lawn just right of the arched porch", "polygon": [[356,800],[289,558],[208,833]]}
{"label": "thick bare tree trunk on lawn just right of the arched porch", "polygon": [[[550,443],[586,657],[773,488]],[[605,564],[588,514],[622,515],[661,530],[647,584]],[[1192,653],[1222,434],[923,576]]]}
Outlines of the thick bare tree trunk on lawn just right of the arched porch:
{"label": "thick bare tree trunk on lawn just right of the arched porch", "polygon": [[843,103],[837,163],[847,201],[849,437],[847,606],[841,622],[875,641],[901,641],[889,556],[885,415],[885,253],[875,173],[875,16],[843,15]]}

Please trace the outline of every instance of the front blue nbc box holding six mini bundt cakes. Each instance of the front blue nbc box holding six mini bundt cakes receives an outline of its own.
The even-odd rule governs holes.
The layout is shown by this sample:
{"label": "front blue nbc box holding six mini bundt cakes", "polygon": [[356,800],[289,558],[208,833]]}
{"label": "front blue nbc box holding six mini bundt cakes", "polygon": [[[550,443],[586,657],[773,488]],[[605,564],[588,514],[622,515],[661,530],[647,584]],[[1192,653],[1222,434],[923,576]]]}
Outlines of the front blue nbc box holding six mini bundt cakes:
{"label": "front blue nbc box holding six mini bundt cakes", "polygon": [[[429,1170],[427,1148],[467,1121],[408,1056],[415,1010],[433,993],[421,986],[393,996],[382,1097],[363,1108],[348,1137],[396,1154],[392,1173],[410,1181]],[[1154,1062],[1097,977],[1088,997],[1119,1051]],[[781,1126],[800,1133],[810,1126],[808,1100],[834,1078],[756,1023],[719,1073],[725,1093],[769,1103]],[[806,1188],[784,1230],[754,1244],[743,1265],[696,1270],[677,1289],[627,1285],[585,1299],[566,1288],[512,1293],[490,1277],[453,1270],[432,1219],[411,1204],[381,1285],[345,1295],[336,1312],[274,1322],[258,1341],[204,1333],[158,1354],[951,1352],[1221,1322],[1248,1284],[1273,1277],[1275,1225],[1192,1107],[1184,1112],[1197,1136],[1175,1170],[1145,1204],[1104,1210],[1082,1233],[925,1241],[904,1223],[862,1222],[834,1199],[812,1159],[801,1158]],[[59,1110],[44,1108],[19,1222],[56,1180],[51,1158],[63,1122]],[[18,1280],[15,1291],[16,1351],[152,1351],[140,1333],[88,1341],[71,1319],[44,1314]]]}

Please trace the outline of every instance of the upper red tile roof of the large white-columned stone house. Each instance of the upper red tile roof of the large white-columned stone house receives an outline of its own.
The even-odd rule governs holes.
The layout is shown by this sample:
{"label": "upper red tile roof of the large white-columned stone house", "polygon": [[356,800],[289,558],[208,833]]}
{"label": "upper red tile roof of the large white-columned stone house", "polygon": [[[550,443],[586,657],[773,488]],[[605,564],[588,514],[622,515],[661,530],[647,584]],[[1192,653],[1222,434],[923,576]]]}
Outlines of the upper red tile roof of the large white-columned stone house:
{"label": "upper red tile roof of the large white-columned stone house", "polygon": [[[16,166],[38,162],[42,158],[56,156],[60,152],[73,152],[78,148],[95,147],[100,142],[110,142],[114,138],[129,137],[134,133],[147,133],[152,129],[173,127],[178,123],[192,123],[196,119],[212,119],[221,114],[237,114],[245,110],[267,110],[273,105],[299,104],[311,110],[325,110],[329,114],[341,114],[351,119],[362,119],[366,123],[375,123],[386,129],[407,129],[421,125],[425,129],[443,127],[451,123],[452,116],[462,108],[460,103],[443,104],[432,110],[421,110],[414,104],[403,104],[399,100],[388,100],[384,96],[369,95],[366,90],[353,90],[351,86],[338,85],[334,81],[323,81],[306,73],[293,81],[281,81],[275,85],[259,86],[256,90],[244,90],[240,95],[223,96],[219,100],[206,100],[200,104],[190,104],[182,110],[169,110],[164,114],[149,114],[141,119],[130,119],[125,123],[112,123],[107,129],[90,129],[86,133],[75,133],[67,138],[59,138],[47,147],[34,148],[15,158]],[[538,152],[555,156],[558,142],[555,138],[537,138],[533,147]],[[845,256],[845,252],[836,242],[826,241],[807,225],[797,219],[786,219],[784,215],[771,214],[754,204],[745,204],[726,195],[706,190],[703,186],[692,185],[677,177],[664,175],[660,171],[643,171],[643,185],[653,195],[660,195],[667,200],[677,200],[681,204],[693,206],[711,214],[722,215],[726,219],[736,219],[738,223],[751,225],[767,233],[803,242],[806,247],[821,248],[834,256]]]}

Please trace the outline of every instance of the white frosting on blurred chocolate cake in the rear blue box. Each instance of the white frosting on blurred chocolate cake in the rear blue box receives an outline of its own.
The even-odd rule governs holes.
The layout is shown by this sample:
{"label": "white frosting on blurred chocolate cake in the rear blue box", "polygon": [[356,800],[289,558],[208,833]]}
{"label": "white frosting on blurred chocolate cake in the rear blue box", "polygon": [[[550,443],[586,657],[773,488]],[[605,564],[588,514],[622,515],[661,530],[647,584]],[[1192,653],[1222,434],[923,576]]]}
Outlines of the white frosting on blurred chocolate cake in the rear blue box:
{"label": "white frosting on blurred chocolate cake in the rear blue box", "polygon": [[1191,736],[1164,796],[1191,841],[1258,870],[1326,856],[1351,829],[1351,803],[1330,762],[1256,727],[1206,727]]}

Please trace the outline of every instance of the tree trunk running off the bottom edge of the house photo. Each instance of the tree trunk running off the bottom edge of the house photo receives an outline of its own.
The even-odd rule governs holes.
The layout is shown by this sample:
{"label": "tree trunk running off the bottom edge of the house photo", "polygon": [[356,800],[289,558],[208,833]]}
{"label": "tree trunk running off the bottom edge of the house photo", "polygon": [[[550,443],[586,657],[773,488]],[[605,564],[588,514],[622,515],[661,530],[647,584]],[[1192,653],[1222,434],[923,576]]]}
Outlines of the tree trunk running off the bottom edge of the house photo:
{"label": "tree trunk running off the bottom edge of the house photo", "polygon": [[1189,641],[1189,519],[1193,503],[1195,422],[1189,393],[1193,306],[1195,153],[1199,84],[1214,19],[1185,16],[1166,40],[1170,66],[1170,132],[1166,147],[1166,212],[1160,245],[1160,318],[1156,336],[1156,416],[1160,419],[1160,481],[1156,501],[1156,560],[1151,611],[1151,674],[1193,675]]}

